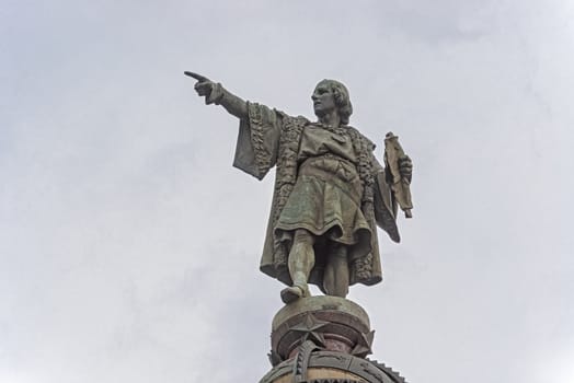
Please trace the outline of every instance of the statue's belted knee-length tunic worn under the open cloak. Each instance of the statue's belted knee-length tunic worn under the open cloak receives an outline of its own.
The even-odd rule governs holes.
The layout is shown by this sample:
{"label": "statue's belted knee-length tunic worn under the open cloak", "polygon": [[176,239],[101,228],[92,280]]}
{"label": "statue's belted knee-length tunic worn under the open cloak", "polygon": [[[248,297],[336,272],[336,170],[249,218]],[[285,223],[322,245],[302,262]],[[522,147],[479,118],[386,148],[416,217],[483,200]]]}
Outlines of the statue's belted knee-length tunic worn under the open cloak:
{"label": "statue's belted knee-length tunic worn under the open cloak", "polygon": [[357,161],[345,130],[307,125],[301,132],[297,181],[275,224],[275,236],[290,241],[294,230],[307,229],[315,236],[355,245],[361,234],[371,235],[360,210]]}

